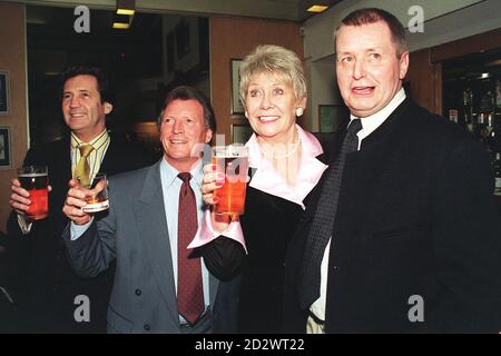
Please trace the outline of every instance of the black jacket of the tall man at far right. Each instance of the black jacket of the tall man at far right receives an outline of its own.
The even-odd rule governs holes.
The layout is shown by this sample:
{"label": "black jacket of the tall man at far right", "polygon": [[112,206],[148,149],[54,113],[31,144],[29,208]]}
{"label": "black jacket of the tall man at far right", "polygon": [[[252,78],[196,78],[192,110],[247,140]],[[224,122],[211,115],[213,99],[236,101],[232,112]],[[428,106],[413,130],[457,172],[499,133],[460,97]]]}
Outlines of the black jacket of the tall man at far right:
{"label": "black jacket of the tall man at far right", "polygon": [[[492,189],[488,155],[473,136],[409,99],[401,103],[346,157],[326,332],[499,332],[501,221]],[[286,260],[287,332],[305,329],[297,296],[316,211],[310,206]],[[423,298],[423,323],[409,319],[412,296]]]}

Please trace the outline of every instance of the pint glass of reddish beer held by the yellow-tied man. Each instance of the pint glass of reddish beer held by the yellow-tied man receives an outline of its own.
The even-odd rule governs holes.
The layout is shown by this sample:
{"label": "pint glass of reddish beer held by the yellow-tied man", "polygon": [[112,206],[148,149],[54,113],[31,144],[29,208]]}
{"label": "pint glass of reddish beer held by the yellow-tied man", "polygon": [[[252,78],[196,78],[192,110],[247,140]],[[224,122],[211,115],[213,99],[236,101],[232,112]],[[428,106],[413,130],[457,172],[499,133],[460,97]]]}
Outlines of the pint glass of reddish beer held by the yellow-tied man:
{"label": "pint glass of reddish beer held by the yellow-tied man", "polygon": [[47,166],[27,166],[18,169],[21,187],[28,190],[30,208],[24,214],[27,221],[35,221],[49,216],[49,176]]}

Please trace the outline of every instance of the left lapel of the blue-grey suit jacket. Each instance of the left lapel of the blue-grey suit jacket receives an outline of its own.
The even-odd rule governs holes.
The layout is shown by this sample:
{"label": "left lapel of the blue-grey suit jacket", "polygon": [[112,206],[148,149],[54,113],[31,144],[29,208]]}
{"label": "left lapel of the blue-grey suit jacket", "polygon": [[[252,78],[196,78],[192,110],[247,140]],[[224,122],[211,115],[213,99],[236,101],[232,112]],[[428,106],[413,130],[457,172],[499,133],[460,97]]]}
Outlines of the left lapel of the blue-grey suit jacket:
{"label": "left lapel of the blue-grey suit jacket", "polygon": [[147,257],[151,265],[155,279],[171,313],[173,319],[177,319],[178,313],[173,258],[167,220],[164,212],[165,206],[159,162],[148,169],[143,191],[134,210],[139,231],[141,231],[145,240]]}

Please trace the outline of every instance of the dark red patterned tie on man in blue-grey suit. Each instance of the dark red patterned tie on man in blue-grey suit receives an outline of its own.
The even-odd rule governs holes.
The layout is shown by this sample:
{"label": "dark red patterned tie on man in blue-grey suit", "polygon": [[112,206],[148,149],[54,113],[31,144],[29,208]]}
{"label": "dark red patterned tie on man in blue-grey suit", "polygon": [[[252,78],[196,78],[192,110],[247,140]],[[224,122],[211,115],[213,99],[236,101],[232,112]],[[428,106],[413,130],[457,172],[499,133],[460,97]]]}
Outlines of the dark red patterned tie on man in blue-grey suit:
{"label": "dark red patterned tie on man in blue-grey suit", "polygon": [[179,315],[193,325],[204,313],[200,258],[190,258],[191,250],[187,249],[198,227],[197,204],[189,186],[191,175],[184,172],[177,177],[183,180],[177,226],[177,307]]}

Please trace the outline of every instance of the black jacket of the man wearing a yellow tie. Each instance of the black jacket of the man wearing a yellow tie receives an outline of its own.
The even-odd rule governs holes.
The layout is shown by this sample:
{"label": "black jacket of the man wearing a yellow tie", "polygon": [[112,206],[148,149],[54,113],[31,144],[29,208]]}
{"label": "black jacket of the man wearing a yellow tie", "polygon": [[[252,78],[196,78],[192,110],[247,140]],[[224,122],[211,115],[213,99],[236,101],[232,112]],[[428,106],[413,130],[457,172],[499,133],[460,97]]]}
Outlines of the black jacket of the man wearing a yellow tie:
{"label": "black jacket of the man wearing a yellow tie", "polygon": [[[112,283],[112,270],[95,280],[78,278],[68,265],[61,240],[67,224],[62,206],[71,179],[70,139],[40,144],[31,148],[24,165],[48,166],[52,191],[49,195],[49,218],[33,224],[23,236],[16,212],[12,212],[10,236],[12,289],[20,309],[20,332],[85,333],[106,332],[106,307]],[[108,176],[151,164],[140,150],[111,137],[100,171]],[[87,295],[91,301],[90,323],[76,323],[75,296]]]}

